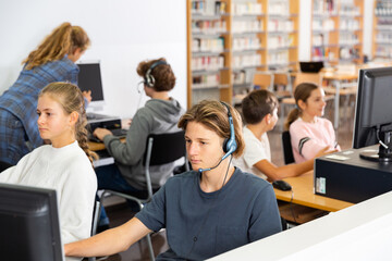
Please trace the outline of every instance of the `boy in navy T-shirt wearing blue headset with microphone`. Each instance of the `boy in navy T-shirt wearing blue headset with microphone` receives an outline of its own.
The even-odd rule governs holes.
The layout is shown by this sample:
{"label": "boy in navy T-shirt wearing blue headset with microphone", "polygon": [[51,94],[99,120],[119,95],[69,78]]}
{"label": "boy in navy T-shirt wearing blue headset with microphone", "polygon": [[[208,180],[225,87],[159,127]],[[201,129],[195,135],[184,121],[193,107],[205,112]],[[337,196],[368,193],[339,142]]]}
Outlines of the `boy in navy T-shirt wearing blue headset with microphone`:
{"label": "boy in navy T-shirt wearing blue headset with microphone", "polygon": [[231,163],[245,146],[240,114],[229,104],[201,101],[179,127],[193,171],[171,177],[125,224],[65,245],[66,256],[124,251],[166,227],[170,248],[157,260],[206,260],[281,231],[272,186]]}

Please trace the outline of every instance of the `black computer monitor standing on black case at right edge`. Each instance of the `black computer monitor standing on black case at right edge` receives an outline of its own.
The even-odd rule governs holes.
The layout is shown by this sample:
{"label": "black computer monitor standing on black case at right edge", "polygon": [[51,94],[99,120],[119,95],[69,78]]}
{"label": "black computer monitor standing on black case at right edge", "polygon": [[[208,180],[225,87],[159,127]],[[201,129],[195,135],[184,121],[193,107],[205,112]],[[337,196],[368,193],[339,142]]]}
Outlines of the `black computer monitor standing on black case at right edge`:
{"label": "black computer monitor standing on black case at right edge", "polygon": [[360,157],[392,161],[392,67],[359,70],[353,148],[376,144],[378,158],[371,152]]}

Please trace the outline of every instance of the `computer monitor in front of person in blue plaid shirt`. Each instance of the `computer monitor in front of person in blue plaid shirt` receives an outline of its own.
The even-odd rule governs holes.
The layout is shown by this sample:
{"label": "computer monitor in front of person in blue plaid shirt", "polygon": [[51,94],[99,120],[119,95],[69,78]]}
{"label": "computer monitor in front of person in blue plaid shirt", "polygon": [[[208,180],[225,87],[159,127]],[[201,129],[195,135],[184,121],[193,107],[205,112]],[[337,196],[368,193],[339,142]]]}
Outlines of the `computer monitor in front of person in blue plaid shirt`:
{"label": "computer monitor in front of person in blue plaid shirt", "polygon": [[77,85],[82,91],[91,90],[93,100],[88,107],[99,108],[105,104],[102,77],[99,61],[81,61],[77,63],[79,74]]}

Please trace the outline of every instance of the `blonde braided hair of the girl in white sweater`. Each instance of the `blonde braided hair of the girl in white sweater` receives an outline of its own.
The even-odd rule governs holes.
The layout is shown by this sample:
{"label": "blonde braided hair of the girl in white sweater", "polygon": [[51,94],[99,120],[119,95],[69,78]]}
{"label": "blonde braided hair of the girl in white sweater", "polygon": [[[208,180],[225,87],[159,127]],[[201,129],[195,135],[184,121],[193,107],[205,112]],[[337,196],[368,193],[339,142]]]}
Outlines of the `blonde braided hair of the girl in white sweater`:
{"label": "blonde braided hair of the girl in white sweater", "polygon": [[65,113],[77,112],[78,119],[75,125],[75,138],[93,164],[93,160],[98,159],[98,156],[89,150],[87,144],[87,117],[81,89],[76,85],[58,82],[47,85],[38,97],[44,95],[50,95],[51,98],[61,104]]}

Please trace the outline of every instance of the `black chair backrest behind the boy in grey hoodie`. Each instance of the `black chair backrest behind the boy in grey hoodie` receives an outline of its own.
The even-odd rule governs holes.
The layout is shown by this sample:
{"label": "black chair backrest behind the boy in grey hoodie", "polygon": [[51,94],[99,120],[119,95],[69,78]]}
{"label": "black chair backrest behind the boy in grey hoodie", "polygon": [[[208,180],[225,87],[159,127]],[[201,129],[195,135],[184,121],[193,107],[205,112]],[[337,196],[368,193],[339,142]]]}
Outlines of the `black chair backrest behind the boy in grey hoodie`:
{"label": "black chair backrest behind the boy in grey hoodie", "polygon": [[[144,165],[146,173],[146,184],[148,198],[152,198],[151,177],[149,174],[149,166],[162,165],[170,162],[174,162],[182,157],[186,162],[186,148],[184,130],[177,133],[167,134],[150,134],[147,137],[147,146],[144,154]],[[187,164],[186,164],[187,165]]]}

